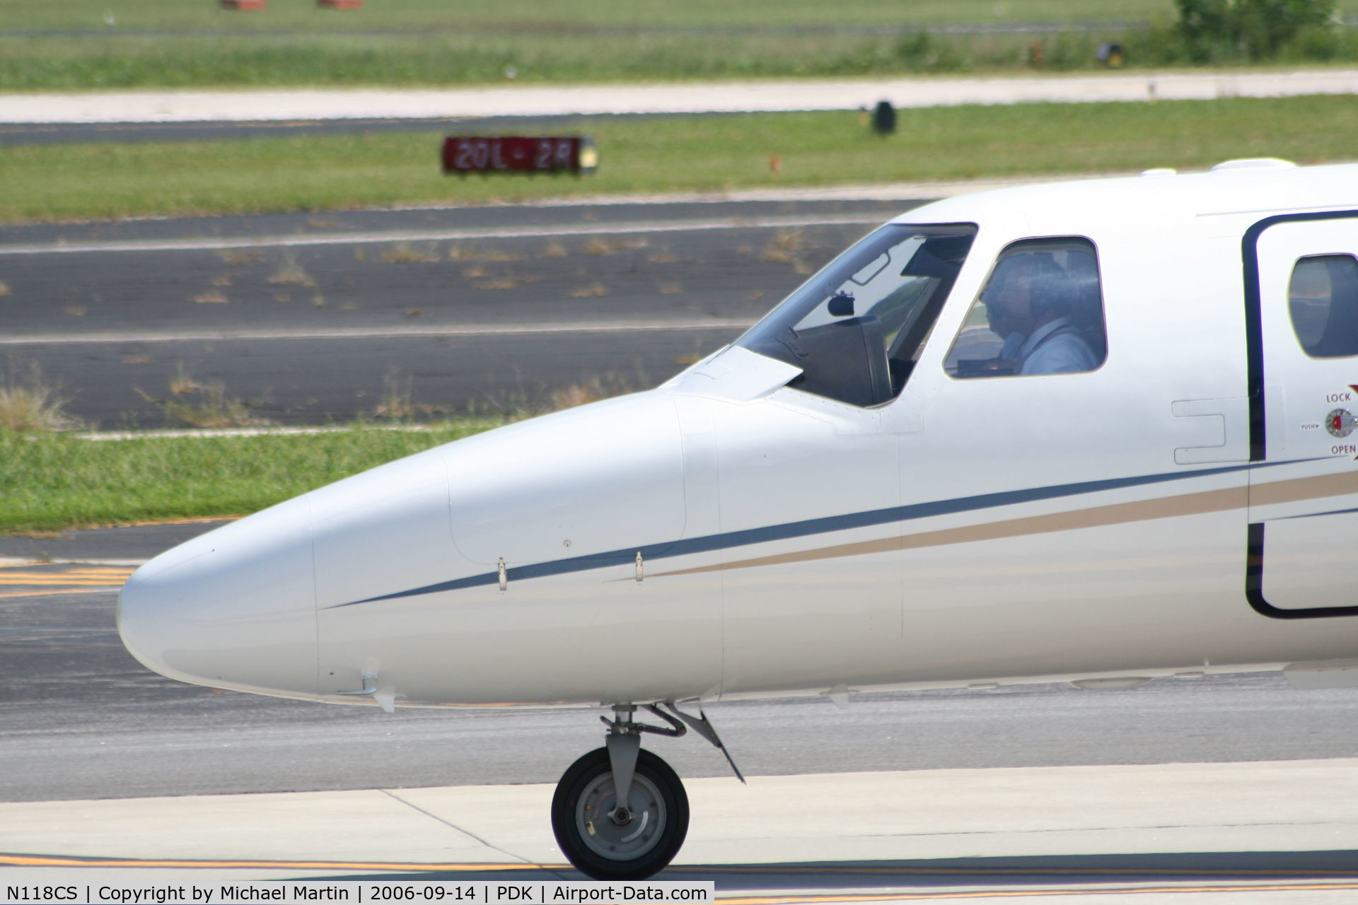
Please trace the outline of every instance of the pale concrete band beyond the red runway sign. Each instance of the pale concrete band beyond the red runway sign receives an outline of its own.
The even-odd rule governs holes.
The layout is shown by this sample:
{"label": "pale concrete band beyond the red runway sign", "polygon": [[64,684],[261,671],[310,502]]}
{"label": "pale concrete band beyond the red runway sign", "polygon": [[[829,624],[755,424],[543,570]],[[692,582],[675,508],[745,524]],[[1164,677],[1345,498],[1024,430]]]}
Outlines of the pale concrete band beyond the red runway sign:
{"label": "pale concrete band beyond the red runway sign", "polygon": [[898,77],[683,84],[299,91],[7,94],[0,122],[273,122],[600,114],[778,113],[898,107],[1285,98],[1358,94],[1358,69],[1108,72],[1076,76]]}

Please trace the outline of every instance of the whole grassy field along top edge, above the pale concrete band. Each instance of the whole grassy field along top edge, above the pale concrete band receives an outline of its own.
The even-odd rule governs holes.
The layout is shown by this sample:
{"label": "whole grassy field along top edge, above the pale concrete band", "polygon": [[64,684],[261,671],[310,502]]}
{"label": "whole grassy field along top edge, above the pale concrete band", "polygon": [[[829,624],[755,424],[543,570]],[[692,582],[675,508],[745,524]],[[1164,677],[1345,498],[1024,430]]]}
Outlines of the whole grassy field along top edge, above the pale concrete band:
{"label": "whole grassy field along top edge, above the pale concrete band", "polygon": [[[1336,8],[1351,14],[1358,0]],[[208,0],[3,0],[0,9],[0,90],[1070,71],[1099,68],[1105,42],[1131,66],[1258,62],[1237,42],[1190,49],[1172,0],[369,0],[344,12],[296,0],[254,14]],[[1358,60],[1358,30],[1310,28],[1279,50],[1268,62]]]}

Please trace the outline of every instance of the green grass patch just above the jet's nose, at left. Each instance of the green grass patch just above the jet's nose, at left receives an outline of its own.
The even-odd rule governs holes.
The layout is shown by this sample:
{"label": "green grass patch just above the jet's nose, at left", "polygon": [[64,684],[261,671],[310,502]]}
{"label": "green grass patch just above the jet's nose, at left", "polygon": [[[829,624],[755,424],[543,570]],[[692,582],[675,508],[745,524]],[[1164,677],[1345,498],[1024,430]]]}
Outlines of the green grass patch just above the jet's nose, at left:
{"label": "green grass patch just above the jet's nose, at left", "polygon": [[497,423],[99,442],[0,430],[0,533],[244,516]]}

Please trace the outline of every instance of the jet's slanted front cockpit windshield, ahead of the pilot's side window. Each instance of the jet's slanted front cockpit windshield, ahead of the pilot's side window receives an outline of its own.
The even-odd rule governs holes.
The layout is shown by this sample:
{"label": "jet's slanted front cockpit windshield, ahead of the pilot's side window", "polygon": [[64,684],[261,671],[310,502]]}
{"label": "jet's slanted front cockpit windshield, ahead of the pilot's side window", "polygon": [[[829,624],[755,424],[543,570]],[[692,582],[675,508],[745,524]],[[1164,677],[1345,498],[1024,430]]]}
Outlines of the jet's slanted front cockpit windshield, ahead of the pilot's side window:
{"label": "jet's slanted front cockpit windshield, ahead of the pilot's side window", "polygon": [[736,341],[801,369],[788,385],[850,406],[895,399],[976,236],[972,224],[888,224]]}

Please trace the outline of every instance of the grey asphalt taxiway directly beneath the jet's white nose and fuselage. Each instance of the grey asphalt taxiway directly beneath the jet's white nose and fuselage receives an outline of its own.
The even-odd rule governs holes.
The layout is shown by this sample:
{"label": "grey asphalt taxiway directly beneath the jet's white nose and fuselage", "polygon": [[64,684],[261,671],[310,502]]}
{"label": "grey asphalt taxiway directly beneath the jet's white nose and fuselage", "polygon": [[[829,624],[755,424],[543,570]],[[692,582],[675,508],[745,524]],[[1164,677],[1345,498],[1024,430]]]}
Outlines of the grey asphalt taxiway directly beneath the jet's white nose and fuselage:
{"label": "grey asphalt taxiway directly beneath the jet's white nose and fuselage", "polygon": [[[0,570],[3,571],[3,570]],[[417,711],[219,695],[141,668],[115,593],[0,596],[0,801],[546,783],[602,744],[598,708]],[[657,643],[660,643],[657,640]],[[1358,756],[1358,692],[1278,674],[854,695],[709,708],[748,775]],[[682,776],[727,773],[690,734]]]}

